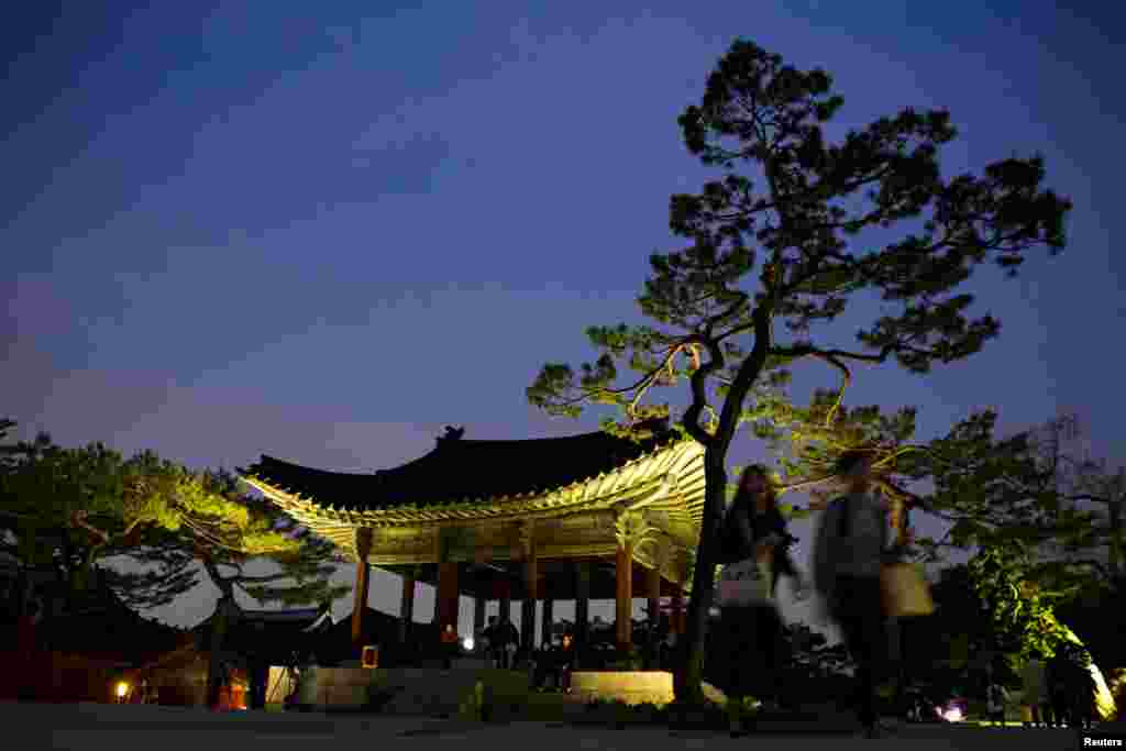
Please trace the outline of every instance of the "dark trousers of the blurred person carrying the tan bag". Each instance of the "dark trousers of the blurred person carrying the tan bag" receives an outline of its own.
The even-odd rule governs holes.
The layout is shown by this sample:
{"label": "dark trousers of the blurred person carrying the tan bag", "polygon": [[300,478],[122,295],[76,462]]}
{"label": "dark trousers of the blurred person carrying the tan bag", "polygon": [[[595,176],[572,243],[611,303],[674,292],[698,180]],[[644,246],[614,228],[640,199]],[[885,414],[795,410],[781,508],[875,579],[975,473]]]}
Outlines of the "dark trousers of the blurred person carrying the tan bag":
{"label": "dark trousers of the blurred person carrying the tan bag", "polygon": [[887,650],[879,578],[838,576],[830,611],[856,663],[857,717],[863,725],[873,725],[878,716],[876,683]]}

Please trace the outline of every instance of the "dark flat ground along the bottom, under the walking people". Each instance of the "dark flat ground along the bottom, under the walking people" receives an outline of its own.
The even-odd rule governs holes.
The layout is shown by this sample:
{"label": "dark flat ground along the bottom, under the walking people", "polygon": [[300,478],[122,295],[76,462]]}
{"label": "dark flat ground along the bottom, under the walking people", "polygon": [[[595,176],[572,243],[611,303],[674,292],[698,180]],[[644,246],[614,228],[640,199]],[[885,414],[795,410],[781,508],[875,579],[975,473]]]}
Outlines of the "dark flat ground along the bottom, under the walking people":
{"label": "dark flat ground along the bottom, under the walking people", "polygon": [[[423,717],[357,717],[316,714],[238,713],[212,714],[200,709],[146,706],[0,704],[0,723],[11,744],[20,751],[74,749],[106,751],[154,749],[155,751],[252,751],[253,749],[296,746],[318,741],[368,744],[400,741],[403,746],[422,749],[453,748],[470,741],[481,748],[538,748],[583,751],[587,749],[664,749],[714,748],[751,743],[757,749],[806,749],[826,745],[833,751],[867,746],[872,741],[852,739],[841,728],[775,726],[763,727],[745,741],[704,731],[670,734],[664,727],[636,726],[624,730],[574,726],[561,723],[520,722],[499,725],[468,724]],[[1121,731],[1119,731],[1121,732]],[[900,742],[930,741],[936,749],[980,749],[991,751],[1061,751],[1079,748],[1070,731],[976,728],[951,725],[906,726]],[[1121,735],[1119,735],[1121,737]],[[341,746],[347,748],[347,746]],[[356,748],[363,748],[357,745]],[[749,746],[744,746],[749,748]]]}

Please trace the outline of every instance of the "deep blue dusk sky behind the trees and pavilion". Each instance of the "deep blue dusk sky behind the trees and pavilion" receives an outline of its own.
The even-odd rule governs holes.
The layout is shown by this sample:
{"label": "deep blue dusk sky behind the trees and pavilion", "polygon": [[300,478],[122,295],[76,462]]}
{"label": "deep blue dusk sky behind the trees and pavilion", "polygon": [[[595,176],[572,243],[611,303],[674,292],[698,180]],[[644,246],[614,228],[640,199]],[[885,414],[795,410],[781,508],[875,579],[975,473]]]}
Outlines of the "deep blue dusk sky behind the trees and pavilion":
{"label": "deep blue dusk sky behind the trees and pavilion", "polygon": [[[524,388],[589,355],[584,327],[637,319],[647,254],[676,245],[669,195],[707,175],[676,117],[745,36],[833,73],[841,127],[948,107],[948,173],[1038,151],[1075,203],[1063,256],[973,281],[1000,340],[926,377],[861,370],[850,402],[918,405],[924,438],[985,405],[1006,429],[1076,410],[1094,453],[1121,457],[1112,3],[388,5],[10,11],[0,411],[25,435],[365,471],[446,423],[593,429]],[[811,366],[799,394],[833,378]],[[758,454],[747,439],[733,459]],[[373,602],[395,613],[396,582],[376,575]],[[213,598],[161,616],[194,623]]]}

